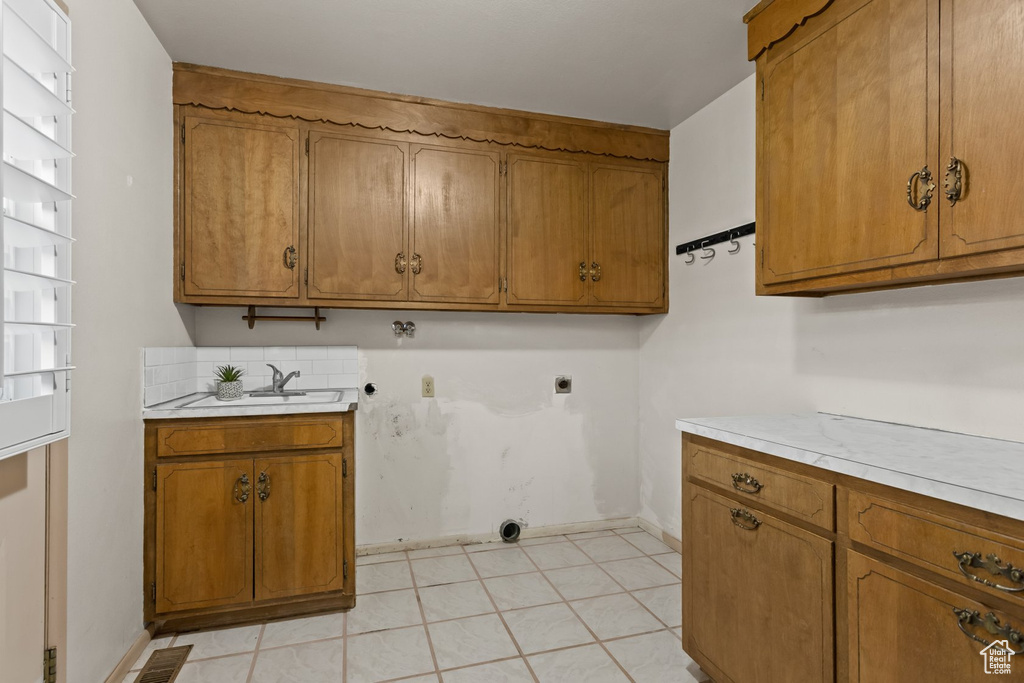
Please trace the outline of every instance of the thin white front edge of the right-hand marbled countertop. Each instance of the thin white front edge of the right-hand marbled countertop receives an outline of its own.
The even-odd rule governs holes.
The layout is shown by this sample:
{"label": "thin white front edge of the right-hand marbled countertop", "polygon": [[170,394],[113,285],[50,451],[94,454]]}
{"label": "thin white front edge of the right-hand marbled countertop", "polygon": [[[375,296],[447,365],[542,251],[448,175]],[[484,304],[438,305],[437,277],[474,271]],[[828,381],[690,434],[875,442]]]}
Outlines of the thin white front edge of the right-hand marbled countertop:
{"label": "thin white front edge of the right-hand marbled countertop", "polygon": [[938,479],[916,476],[905,472],[854,462],[844,458],[836,458],[813,451],[806,451],[784,443],[765,440],[757,436],[748,436],[738,432],[716,427],[708,427],[688,420],[676,420],[676,429],[688,434],[695,434],[716,441],[723,441],[759,453],[766,453],[785,460],[791,460],[813,467],[874,483],[908,490],[929,498],[935,498],[965,507],[991,512],[1004,517],[1024,521],[1024,501],[1008,498],[998,494],[990,494],[976,488],[958,486]]}

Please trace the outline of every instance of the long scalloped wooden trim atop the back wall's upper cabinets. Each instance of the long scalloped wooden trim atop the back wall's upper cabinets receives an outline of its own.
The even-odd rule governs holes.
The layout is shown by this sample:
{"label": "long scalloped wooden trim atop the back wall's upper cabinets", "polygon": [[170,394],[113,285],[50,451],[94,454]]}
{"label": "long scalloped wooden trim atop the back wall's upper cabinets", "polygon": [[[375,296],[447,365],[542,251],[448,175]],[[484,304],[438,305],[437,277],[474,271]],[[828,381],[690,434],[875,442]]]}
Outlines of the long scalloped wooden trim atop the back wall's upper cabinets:
{"label": "long scalloped wooden trim atop the back wall's upper cabinets", "polygon": [[502,145],[669,161],[669,131],[174,65],[174,103]]}

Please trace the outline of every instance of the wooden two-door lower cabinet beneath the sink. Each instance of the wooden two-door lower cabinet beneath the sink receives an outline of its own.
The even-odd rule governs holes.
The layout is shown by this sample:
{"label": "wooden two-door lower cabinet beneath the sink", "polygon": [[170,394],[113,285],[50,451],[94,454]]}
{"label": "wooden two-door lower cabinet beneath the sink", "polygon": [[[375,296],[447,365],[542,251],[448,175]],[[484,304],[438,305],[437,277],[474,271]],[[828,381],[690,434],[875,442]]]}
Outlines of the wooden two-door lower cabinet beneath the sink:
{"label": "wooden two-door lower cabinet beneath the sink", "polygon": [[[353,606],[351,416],[146,421],[145,621],[166,632]],[[323,422],[341,445],[158,460],[158,441],[190,429],[202,443],[270,420],[274,442]]]}

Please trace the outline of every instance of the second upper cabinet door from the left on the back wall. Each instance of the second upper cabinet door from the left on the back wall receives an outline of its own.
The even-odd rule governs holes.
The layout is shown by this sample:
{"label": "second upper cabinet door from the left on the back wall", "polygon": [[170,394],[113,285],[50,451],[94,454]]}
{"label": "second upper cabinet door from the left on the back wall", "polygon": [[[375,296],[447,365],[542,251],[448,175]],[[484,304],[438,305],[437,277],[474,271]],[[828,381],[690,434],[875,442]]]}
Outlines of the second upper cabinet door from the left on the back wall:
{"label": "second upper cabinet door from the left on the back wall", "polygon": [[309,135],[309,298],[407,297],[409,145]]}

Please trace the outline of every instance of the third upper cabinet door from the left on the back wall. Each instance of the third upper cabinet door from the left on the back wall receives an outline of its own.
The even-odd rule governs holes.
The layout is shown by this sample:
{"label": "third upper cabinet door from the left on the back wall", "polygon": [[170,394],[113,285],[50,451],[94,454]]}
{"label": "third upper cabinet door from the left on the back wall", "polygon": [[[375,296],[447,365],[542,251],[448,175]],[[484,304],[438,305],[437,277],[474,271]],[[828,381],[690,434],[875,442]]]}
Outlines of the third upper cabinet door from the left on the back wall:
{"label": "third upper cabinet door from the left on the back wall", "polygon": [[414,301],[498,304],[499,155],[414,145]]}

